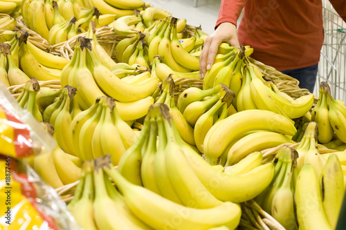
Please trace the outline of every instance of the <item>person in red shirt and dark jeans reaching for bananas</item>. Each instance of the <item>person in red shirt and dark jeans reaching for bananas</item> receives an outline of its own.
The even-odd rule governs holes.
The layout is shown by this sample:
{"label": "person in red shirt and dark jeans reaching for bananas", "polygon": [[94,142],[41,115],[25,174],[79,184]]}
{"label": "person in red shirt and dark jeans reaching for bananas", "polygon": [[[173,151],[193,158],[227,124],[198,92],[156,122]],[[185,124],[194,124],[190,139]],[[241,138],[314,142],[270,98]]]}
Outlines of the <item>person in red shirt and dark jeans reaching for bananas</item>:
{"label": "person in red shirt and dark jeans reaching for bananas", "polygon": [[[329,1],[346,21],[346,1]],[[199,59],[200,78],[212,66],[221,42],[250,45],[253,59],[298,79],[300,88],[312,93],[323,40],[321,0],[221,0],[215,32],[206,39]]]}

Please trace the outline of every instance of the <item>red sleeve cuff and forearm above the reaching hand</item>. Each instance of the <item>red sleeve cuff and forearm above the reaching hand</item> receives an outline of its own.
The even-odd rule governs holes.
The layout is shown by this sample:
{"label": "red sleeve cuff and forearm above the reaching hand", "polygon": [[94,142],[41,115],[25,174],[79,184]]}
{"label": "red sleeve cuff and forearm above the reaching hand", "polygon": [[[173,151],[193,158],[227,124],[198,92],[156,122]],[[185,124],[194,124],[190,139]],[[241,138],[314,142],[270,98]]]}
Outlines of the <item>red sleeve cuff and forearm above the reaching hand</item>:
{"label": "red sleeve cuff and forearm above the reaching hand", "polygon": [[217,26],[223,22],[230,22],[237,26],[237,20],[242,12],[246,0],[221,0],[219,16],[217,17]]}

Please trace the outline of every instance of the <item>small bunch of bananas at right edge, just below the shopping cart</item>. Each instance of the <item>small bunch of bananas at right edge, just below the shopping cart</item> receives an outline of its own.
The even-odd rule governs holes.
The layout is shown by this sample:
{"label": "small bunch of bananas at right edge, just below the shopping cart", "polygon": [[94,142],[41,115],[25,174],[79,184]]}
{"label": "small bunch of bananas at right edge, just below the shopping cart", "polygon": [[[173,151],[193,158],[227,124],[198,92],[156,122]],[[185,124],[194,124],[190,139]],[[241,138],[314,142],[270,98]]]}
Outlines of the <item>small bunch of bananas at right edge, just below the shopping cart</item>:
{"label": "small bunch of bananas at right edge, just below the shopping cart", "polygon": [[336,135],[338,140],[346,143],[345,105],[331,96],[327,82],[321,82],[319,93],[318,103],[313,108],[311,116],[311,120],[318,123],[318,142],[330,142]]}

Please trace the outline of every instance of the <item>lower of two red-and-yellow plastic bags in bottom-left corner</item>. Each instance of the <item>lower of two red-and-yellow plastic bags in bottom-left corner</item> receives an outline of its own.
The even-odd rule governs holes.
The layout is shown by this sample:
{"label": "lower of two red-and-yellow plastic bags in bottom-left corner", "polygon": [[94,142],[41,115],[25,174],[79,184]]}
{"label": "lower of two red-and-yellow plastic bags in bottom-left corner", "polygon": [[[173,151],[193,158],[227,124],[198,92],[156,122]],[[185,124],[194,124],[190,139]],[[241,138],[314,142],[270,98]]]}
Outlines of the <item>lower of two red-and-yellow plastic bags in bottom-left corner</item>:
{"label": "lower of two red-and-yellow plastic bags in bottom-left corner", "polygon": [[0,229],[81,229],[55,190],[26,163],[0,156]]}

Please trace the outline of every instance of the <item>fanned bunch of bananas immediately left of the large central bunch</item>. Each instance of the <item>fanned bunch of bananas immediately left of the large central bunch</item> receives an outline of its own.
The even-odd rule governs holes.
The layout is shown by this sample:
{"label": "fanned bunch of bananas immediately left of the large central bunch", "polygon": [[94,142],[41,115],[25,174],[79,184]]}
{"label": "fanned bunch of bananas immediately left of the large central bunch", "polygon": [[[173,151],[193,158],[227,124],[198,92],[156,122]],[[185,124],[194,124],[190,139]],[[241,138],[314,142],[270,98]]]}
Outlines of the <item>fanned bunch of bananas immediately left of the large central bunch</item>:
{"label": "fanned bunch of bananas immediately left of the large central bunch", "polygon": [[117,165],[125,150],[137,139],[110,97],[98,97],[90,108],[78,113],[67,132],[73,152],[83,162],[111,154],[113,164]]}

